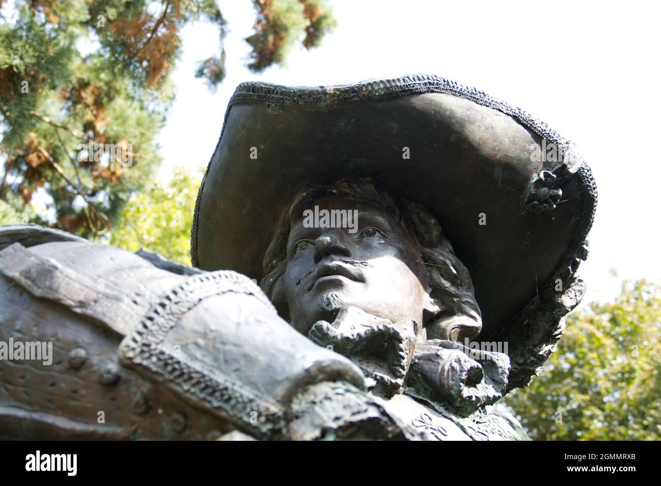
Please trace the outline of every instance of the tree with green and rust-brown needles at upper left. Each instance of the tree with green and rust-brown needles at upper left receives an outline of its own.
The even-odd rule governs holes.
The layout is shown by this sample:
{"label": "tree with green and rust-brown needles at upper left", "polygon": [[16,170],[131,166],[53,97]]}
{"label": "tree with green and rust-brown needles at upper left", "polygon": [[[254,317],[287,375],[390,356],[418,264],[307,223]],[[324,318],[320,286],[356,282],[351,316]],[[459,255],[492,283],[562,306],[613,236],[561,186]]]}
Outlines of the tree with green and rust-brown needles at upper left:
{"label": "tree with green and rust-brown needles at upper left", "polygon": [[[254,71],[284,62],[299,38],[317,46],[334,24],[325,0],[254,5]],[[16,0],[2,15],[0,224],[15,219],[11,207],[32,223],[102,234],[161,162],[155,137],[173,100],[181,28],[217,26],[221,51],[196,71],[215,87],[225,18],[214,0]],[[20,209],[35,195],[48,216]]]}

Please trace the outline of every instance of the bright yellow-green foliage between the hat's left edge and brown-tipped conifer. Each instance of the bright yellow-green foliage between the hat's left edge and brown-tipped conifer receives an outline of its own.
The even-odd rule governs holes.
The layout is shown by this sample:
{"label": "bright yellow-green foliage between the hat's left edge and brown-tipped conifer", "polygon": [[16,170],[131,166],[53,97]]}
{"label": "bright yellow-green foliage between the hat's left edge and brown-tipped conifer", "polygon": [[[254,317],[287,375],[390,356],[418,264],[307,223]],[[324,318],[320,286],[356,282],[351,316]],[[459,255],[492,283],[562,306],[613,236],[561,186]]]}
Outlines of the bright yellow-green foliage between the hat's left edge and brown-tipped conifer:
{"label": "bright yellow-green foliage between the hat's left edge and brown-tipped conifer", "polygon": [[103,242],[130,252],[145,248],[190,265],[190,228],[201,181],[202,174],[178,168],[168,184],[157,182],[133,195]]}

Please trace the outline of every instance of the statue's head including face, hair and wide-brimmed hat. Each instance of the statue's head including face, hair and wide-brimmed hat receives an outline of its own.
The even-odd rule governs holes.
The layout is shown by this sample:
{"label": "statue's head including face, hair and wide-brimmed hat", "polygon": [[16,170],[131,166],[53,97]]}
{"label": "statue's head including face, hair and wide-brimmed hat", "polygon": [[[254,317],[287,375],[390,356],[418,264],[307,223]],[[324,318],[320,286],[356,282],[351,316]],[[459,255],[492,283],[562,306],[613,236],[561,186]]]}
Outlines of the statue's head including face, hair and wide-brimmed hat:
{"label": "statue's head including face, hair and wide-brimmed hat", "polygon": [[[537,156],[549,143],[561,162]],[[584,292],[596,188],[577,154],[520,108],[441,77],[243,83],[198,193],[192,263],[258,279],[304,334],[317,320],[342,331],[356,308],[406,316],[427,339],[479,331],[508,342],[508,386],[525,386]],[[315,206],[358,211],[356,232],[309,227]]]}

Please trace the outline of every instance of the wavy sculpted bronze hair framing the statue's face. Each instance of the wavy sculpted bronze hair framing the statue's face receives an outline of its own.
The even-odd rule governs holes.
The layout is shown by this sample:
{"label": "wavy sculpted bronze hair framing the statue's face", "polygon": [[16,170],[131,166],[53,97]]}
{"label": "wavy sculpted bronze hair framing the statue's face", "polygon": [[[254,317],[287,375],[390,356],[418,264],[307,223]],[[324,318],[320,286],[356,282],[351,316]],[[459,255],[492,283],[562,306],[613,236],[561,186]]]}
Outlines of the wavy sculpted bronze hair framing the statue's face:
{"label": "wavy sculpted bronze hair framing the statue's face", "polygon": [[479,306],[468,269],[455,256],[452,245],[441,230],[438,219],[423,205],[401,199],[368,179],[345,179],[331,186],[303,188],[276,226],[264,256],[265,277],[260,287],[280,312],[289,319],[284,298],[282,275],[287,269],[287,241],[293,223],[315,201],[342,196],[362,203],[379,205],[397,219],[420,248],[420,261],[426,265],[426,288],[433,304],[423,314],[428,339],[475,337],[482,328]]}

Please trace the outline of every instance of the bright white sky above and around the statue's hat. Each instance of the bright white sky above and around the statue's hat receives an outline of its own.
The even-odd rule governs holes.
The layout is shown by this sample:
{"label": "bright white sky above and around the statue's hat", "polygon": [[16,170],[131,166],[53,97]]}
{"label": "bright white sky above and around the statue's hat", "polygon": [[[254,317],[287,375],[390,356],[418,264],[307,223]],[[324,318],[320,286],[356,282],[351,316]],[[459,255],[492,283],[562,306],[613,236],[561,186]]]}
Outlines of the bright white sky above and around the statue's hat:
{"label": "bright white sky above and around the statue's hat", "polygon": [[[582,264],[584,302],[606,299],[620,278],[661,276],[656,201],[660,8],[652,3],[574,1],[336,0],[338,27],[286,68],[245,68],[254,21],[249,0],[221,0],[229,22],[227,78],[215,94],[194,78],[214,55],[217,31],[189,26],[176,69],[177,100],[160,136],[167,178],[174,166],[206,166],[234,88],[242,81],[346,84],[428,73],[484,90],[546,121],[581,147],[599,203]],[[504,5],[507,5],[504,7]]]}

